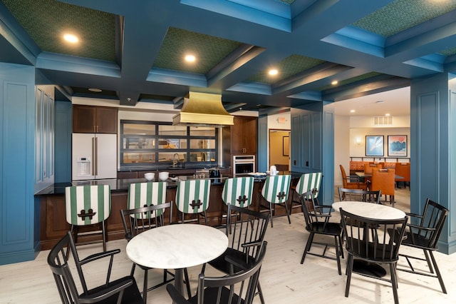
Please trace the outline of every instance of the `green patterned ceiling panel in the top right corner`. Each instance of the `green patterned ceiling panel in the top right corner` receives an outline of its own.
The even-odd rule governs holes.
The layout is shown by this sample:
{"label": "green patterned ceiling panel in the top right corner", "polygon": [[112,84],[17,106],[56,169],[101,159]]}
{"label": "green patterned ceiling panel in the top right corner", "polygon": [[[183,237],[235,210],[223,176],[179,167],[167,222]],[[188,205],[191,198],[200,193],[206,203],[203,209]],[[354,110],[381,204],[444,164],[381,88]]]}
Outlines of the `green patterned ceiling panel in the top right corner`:
{"label": "green patterned ceiling panel in the top right corner", "polygon": [[352,25],[383,37],[393,36],[456,9],[456,1],[396,0]]}

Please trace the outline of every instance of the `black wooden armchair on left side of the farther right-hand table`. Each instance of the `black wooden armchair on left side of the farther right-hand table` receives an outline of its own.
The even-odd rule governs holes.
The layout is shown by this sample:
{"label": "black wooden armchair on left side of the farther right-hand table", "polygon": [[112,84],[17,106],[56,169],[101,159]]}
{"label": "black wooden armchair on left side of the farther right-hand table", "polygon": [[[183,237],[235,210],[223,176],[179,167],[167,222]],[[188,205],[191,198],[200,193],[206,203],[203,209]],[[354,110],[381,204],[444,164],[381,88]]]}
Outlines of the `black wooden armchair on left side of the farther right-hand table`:
{"label": "black wooden armchair on left side of the farther right-hand table", "polygon": [[[332,260],[337,260],[337,268],[339,275],[341,272],[341,260],[343,258],[342,250],[342,228],[340,223],[332,223],[329,221],[331,218],[331,206],[317,205],[314,200],[314,194],[312,191],[307,191],[301,196],[301,205],[304,213],[304,219],[306,221],[306,230],[309,231],[309,239],[306,243],[306,248],[304,248],[304,253],[301,258],[301,264],[304,263],[306,254],[316,255],[321,258],[329,258]],[[315,235],[327,235],[334,238],[334,246],[336,248],[336,256],[332,257],[326,255],[326,250],[328,249],[330,243],[321,243],[314,242]],[[313,253],[311,252],[312,244],[323,245],[323,253]]]}

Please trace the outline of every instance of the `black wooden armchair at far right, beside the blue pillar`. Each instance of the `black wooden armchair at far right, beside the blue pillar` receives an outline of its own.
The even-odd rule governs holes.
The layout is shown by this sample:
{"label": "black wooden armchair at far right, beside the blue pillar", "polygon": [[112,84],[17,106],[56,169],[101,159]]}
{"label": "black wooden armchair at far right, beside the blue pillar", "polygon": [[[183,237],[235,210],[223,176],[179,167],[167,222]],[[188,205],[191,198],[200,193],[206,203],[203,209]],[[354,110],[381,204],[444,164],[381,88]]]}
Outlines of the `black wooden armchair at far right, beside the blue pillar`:
{"label": "black wooden armchair at far right, beside the blue pillar", "polygon": [[[443,284],[442,275],[440,274],[440,270],[437,267],[437,262],[435,261],[434,254],[432,252],[438,249],[440,233],[442,233],[442,228],[445,224],[448,213],[449,211],[447,208],[435,203],[435,201],[431,201],[429,198],[426,200],[423,215],[420,216],[418,214],[407,213],[408,216],[410,216],[412,223],[407,225],[408,231],[405,232],[405,238],[402,244],[404,246],[422,249],[425,258],[400,254],[400,256],[407,259],[410,269],[398,268],[398,270],[406,271],[408,273],[437,278],[443,293],[447,293],[447,289]],[[417,219],[418,221],[416,221]],[[413,268],[410,259],[425,260],[427,262],[427,266],[429,267],[429,272]]]}

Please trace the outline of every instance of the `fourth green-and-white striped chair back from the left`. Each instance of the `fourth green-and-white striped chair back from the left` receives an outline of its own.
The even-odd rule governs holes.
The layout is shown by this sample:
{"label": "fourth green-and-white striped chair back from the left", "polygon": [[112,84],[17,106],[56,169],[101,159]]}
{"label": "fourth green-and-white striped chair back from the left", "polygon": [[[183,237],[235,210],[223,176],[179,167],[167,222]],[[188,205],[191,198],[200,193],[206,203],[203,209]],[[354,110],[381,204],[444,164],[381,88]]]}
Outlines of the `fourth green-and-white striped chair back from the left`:
{"label": "fourth green-and-white striped chair back from the left", "polygon": [[228,178],[223,186],[222,200],[226,205],[247,208],[252,203],[254,191],[254,178],[240,177]]}

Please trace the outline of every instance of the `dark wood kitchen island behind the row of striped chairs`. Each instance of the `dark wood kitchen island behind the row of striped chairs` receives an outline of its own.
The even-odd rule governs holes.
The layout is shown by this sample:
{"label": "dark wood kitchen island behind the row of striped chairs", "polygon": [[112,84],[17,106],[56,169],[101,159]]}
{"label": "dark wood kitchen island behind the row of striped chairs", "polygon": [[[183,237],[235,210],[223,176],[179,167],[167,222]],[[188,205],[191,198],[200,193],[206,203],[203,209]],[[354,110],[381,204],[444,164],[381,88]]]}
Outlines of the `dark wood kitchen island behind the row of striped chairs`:
{"label": "dark wood kitchen island behind the row of striped chairs", "polygon": [[[300,176],[301,173],[296,173]],[[193,176],[179,176],[178,178],[187,179],[194,178]],[[222,190],[224,180],[228,176],[222,178],[214,178],[211,184],[209,208],[207,210],[207,221],[210,226],[219,226],[222,224]],[[167,180],[167,201],[175,201],[177,181],[175,178]],[[65,188],[68,186],[82,186],[82,185],[98,185],[109,184],[111,188],[111,213],[106,222],[108,230],[108,241],[118,240],[124,237],[124,230],[122,219],[120,217],[120,210],[127,208],[128,202],[128,186],[130,183],[145,183],[145,178],[125,178],[125,179],[108,179],[96,181],[73,181],[68,183],[54,183],[52,186],[44,189],[35,194],[36,208],[40,210],[40,242],[41,250],[48,250],[53,247],[60,240],[63,235],[70,230],[70,225],[66,222],[65,217]],[[293,181],[292,181],[293,183]],[[264,180],[256,178],[254,183],[254,191],[252,198],[253,210],[259,209],[259,201],[261,198],[261,188],[263,187]],[[174,206],[175,207],[175,206]],[[277,208],[277,214],[285,212]],[[297,212],[297,211],[296,211]],[[177,222],[180,219],[180,214],[177,214],[177,208],[173,208],[172,221]],[[165,216],[165,218],[167,218]],[[84,230],[93,229],[93,227],[81,227],[81,232]],[[80,237],[83,241],[83,237]],[[90,240],[90,236],[86,236],[85,240]]]}

